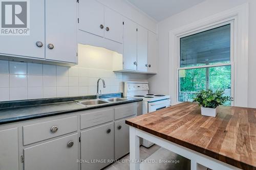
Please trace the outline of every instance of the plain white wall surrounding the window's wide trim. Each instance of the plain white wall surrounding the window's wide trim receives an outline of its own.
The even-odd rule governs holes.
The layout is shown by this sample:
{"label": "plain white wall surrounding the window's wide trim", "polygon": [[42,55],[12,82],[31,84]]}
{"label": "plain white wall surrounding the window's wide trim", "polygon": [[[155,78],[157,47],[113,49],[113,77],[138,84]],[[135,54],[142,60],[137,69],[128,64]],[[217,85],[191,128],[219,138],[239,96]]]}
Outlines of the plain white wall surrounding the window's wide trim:
{"label": "plain white wall surrounding the window's wide trim", "polygon": [[[169,93],[169,31],[205,17],[249,3],[249,75],[248,106],[256,108],[256,1],[255,0],[207,0],[158,23],[158,74],[149,77],[151,92]],[[170,94],[172,95],[172,94]]]}

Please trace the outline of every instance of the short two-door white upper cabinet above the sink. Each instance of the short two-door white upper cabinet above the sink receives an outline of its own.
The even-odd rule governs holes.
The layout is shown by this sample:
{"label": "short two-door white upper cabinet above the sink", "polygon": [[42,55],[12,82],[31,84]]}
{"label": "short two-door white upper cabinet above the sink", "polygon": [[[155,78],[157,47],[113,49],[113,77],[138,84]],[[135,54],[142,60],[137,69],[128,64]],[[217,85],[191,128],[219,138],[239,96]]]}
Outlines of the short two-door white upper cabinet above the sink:
{"label": "short two-door white upper cabinet above the sink", "polygon": [[122,15],[95,0],[79,1],[79,30],[123,43]]}

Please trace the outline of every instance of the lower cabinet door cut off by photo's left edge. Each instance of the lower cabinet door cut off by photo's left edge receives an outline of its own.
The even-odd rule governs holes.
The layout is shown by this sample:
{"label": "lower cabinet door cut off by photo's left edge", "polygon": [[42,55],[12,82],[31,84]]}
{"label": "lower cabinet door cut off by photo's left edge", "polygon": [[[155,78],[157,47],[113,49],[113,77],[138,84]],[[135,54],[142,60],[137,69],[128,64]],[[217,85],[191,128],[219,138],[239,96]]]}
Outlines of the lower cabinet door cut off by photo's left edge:
{"label": "lower cabinet door cut off by photo's left edge", "polygon": [[18,170],[18,128],[0,131],[0,169]]}

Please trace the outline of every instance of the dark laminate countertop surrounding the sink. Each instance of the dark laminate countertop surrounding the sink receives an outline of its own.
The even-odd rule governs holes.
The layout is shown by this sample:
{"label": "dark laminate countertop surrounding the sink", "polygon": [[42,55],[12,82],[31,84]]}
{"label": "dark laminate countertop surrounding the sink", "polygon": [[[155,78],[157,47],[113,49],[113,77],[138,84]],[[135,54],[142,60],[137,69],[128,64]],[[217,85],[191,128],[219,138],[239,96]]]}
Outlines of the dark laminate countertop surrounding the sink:
{"label": "dark laminate countertop surrounding the sink", "polygon": [[[116,95],[113,95],[113,96],[116,96]],[[56,99],[48,99],[47,101],[45,100],[21,101],[21,102],[29,103],[30,105],[26,106],[24,104],[25,106],[7,107],[7,108],[4,108],[4,106],[13,106],[15,104],[13,103],[10,104],[8,102],[5,102],[5,103],[2,103],[2,106],[1,106],[1,103],[0,103],[0,106],[2,108],[0,109],[0,125],[18,122],[22,120],[47,117],[47,116],[53,116],[58,114],[72,113],[76,111],[83,111],[83,110],[96,109],[96,108],[102,108],[107,106],[114,106],[114,105],[120,105],[125,103],[142,101],[142,99],[122,97],[128,100],[123,102],[111,102],[104,105],[94,105],[90,107],[78,104],[74,101],[66,101],[66,100],[81,100],[81,99],[90,99],[90,98],[95,98],[95,96],[86,96],[86,98],[84,97],[61,98],[61,99],[56,98]],[[66,102],[60,102],[60,101],[66,101]],[[36,105],[33,105],[35,103]],[[44,104],[41,104],[41,103],[44,103]],[[20,105],[20,102],[17,102],[17,104]]]}

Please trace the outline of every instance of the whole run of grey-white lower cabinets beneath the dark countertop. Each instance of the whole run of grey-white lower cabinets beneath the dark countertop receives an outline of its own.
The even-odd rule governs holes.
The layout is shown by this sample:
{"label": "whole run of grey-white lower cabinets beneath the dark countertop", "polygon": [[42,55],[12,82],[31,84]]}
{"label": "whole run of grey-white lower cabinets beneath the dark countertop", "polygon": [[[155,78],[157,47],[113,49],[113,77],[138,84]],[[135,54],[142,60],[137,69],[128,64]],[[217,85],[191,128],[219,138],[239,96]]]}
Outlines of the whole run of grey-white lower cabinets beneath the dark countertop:
{"label": "whole run of grey-white lower cabinets beneath the dark countertop", "polygon": [[136,116],[139,105],[134,102],[1,125],[0,170],[102,169],[129,153],[125,119]]}

